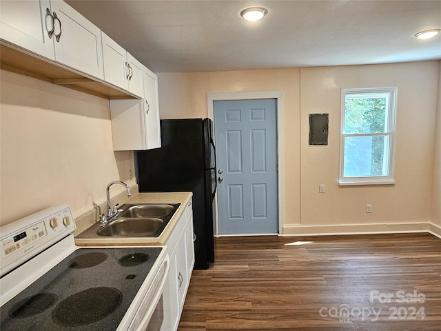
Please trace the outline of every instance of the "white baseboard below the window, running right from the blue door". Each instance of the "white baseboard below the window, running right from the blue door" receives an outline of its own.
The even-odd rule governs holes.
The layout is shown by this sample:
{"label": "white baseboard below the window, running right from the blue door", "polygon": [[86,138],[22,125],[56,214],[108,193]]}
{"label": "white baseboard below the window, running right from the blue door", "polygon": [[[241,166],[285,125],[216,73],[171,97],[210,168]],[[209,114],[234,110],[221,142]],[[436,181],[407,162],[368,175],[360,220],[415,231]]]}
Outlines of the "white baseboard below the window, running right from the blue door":
{"label": "white baseboard below the window, running right from the blue door", "polygon": [[429,232],[441,238],[441,227],[433,223],[393,223],[393,224],[347,224],[347,225],[301,225],[283,226],[283,236],[329,236],[338,234],[380,234]]}

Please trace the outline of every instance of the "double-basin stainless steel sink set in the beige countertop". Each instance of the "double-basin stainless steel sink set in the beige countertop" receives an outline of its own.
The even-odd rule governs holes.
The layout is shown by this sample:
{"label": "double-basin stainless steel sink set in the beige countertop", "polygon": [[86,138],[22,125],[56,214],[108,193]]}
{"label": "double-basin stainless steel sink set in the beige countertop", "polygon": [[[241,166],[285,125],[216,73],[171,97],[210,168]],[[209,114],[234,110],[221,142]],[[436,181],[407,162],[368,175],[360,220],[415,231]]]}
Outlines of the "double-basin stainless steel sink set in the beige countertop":
{"label": "double-basin stainless steel sink set in the beige countertop", "polygon": [[[127,203],[107,225],[92,225],[80,237],[159,237],[180,203]],[[96,229],[98,228],[98,229]],[[88,233],[92,232],[92,233]]]}

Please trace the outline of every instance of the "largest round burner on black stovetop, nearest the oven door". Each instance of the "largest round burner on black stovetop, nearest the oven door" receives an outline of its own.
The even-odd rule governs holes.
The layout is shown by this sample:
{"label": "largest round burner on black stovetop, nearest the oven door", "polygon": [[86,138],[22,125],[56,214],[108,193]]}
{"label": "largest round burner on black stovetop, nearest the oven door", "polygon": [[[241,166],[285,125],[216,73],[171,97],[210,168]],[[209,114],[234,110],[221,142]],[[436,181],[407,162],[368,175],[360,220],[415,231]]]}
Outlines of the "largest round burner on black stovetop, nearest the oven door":
{"label": "largest round burner on black stovetop, nearest the oven door", "polygon": [[116,288],[88,288],[61,301],[52,317],[64,326],[87,325],[112,314],[122,301]]}

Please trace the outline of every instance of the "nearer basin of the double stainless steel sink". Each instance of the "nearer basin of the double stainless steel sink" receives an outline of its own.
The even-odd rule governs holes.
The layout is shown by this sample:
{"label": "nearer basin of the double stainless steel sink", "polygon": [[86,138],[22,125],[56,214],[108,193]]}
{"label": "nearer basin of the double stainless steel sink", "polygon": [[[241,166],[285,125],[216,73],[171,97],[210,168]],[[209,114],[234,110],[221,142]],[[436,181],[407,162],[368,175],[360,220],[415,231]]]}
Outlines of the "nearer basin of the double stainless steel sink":
{"label": "nearer basin of the double stainless steel sink", "polygon": [[163,224],[163,219],[154,217],[116,219],[98,230],[96,234],[111,237],[156,237]]}

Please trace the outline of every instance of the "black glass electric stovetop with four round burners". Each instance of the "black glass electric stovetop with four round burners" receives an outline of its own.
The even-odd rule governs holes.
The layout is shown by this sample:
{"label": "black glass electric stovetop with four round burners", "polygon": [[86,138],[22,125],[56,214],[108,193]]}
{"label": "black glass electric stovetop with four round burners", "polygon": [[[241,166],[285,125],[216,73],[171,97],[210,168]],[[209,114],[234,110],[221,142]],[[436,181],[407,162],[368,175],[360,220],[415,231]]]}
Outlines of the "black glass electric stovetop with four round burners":
{"label": "black glass electric stovetop with four round burners", "polygon": [[1,307],[1,330],[115,330],[162,248],[79,248]]}

